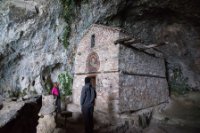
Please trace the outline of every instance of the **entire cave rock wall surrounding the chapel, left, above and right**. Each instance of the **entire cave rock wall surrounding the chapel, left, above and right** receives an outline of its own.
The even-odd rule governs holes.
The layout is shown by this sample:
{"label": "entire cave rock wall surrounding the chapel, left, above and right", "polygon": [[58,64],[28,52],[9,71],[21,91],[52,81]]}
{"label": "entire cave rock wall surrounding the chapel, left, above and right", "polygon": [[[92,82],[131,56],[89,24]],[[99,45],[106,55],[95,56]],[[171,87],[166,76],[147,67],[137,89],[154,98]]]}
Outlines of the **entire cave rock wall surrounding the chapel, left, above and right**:
{"label": "entire cave rock wall surrounding the chapel, left, above and right", "polygon": [[200,90],[199,7],[198,0],[75,0],[65,49],[60,0],[0,0],[0,94],[43,93],[49,73],[54,81],[60,71],[73,74],[77,45],[93,23],[164,43],[156,50],[166,58],[169,86]]}

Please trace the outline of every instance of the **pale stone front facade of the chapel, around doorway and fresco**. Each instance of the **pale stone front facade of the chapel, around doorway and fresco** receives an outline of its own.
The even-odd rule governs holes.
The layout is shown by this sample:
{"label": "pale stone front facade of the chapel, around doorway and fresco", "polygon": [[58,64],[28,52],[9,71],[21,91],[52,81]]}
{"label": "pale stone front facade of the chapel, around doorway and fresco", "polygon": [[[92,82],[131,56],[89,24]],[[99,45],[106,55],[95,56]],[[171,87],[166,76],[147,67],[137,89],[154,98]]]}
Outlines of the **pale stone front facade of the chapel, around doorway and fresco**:
{"label": "pale stone front facade of the chapel, around doorway and fresco", "polygon": [[[118,53],[119,45],[114,45],[120,29],[102,25],[92,25],[79,43],[75,58],[75,76],[73,83],[73,103],[80,105],[81,89],[87,76],[96,76],[97,98],[95,110],[109,112],[117,110],[118,103]],[[91,36],[95,34],[95,46],[91,48]],[[96,52],[100,67],[94,73],[87,71],[87,57]],[[113,105],[113,106],[110,106]],[[112,107],[112,108],[110,108]]]}

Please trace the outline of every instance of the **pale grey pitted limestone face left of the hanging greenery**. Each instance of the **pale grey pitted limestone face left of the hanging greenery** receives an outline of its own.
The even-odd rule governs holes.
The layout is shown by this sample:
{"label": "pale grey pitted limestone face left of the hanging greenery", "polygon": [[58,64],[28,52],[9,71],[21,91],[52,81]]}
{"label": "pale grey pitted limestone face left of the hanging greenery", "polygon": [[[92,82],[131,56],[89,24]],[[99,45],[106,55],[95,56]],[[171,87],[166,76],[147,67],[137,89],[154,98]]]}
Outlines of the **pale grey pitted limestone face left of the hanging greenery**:
{"label": "pale grey pitted limestone face left of the hanging greenery", "polygon": [[66,69],[66,50],[60,39],[66,23],[59,1],[0,1],[0,93],[42,93],[51,70]]}

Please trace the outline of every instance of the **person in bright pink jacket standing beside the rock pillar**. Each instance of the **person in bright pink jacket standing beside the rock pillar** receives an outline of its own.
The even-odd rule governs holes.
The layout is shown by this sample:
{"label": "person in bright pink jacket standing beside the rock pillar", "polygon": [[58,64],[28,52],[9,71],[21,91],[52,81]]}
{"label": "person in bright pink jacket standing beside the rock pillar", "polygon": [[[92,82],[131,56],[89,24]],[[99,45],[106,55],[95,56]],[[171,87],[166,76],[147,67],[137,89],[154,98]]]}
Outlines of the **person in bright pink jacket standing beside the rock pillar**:
{"label": "person in bright pink jacket standing beside the rock pillar", "polygon": [[53,88],[51,90],[51,94],[54,96],[54,98],[56,98],[56,111],[60,112],[61,111],[61,107],[60,107],[60,91],[59,91],[57,82],[55,82],[53,84]]}

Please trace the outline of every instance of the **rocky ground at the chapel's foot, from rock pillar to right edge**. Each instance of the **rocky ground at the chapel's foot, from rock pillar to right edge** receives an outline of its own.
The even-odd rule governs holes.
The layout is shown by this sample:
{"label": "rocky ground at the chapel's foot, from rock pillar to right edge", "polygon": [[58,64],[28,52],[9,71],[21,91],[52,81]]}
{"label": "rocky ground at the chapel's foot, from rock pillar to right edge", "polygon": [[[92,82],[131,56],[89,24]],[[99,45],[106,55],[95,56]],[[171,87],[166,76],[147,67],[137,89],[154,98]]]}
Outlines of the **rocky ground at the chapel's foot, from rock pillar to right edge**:
{"label": "rocky ground at the chapel's foot, from rock pillar to right edge", "polygon": [[[199,133],[200,93],[172,96],[162,110],[154,111],[150,125],[136,128],[133,125],[103,125],[95,123],[95,133]],[[58,117],[54,133],[84,133],[82,118]]]}

